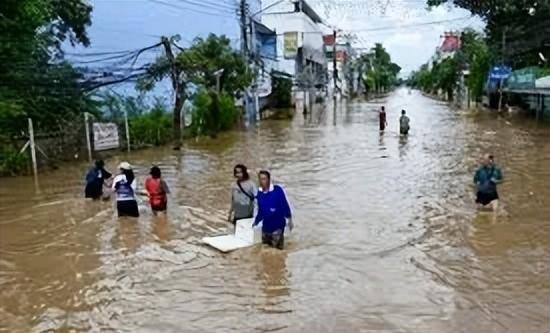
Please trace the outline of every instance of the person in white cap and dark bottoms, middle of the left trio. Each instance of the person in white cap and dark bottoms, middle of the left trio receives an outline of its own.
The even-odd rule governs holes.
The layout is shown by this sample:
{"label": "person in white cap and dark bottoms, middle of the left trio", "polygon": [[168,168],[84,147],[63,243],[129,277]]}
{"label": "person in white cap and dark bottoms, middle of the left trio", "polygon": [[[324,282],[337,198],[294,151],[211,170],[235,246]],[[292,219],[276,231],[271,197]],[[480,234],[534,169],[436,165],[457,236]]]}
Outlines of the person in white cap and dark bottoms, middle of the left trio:
{"label": "person in white cap and dark bottoms, middle of the left trio", "polygon": [[136,200],[136,177],[128,162],[119,164],[120,174],[113,180],[113,191],[116,193],[118,216],[139,217]]}

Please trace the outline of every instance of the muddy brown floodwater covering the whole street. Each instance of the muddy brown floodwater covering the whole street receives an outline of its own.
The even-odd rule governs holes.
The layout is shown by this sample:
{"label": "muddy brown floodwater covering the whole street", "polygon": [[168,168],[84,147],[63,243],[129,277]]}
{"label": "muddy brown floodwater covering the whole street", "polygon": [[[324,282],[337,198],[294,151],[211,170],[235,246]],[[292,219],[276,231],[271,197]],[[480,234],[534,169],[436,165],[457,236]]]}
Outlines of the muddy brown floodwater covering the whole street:
{"label": "muddy brown floodwater covering the whole street", "polygon": [[[485,151],[505,173],[496,217],[473,204]],[[85,165],[43,174],[39,191],[0,180],[0,332],[550,332],[548,126],[398,90],[108,167],[121,159],[140,182],[161,165],[166,219],[85,201]],[[201,245],[230,230],[237,162],[285,185],[285,251]]]}

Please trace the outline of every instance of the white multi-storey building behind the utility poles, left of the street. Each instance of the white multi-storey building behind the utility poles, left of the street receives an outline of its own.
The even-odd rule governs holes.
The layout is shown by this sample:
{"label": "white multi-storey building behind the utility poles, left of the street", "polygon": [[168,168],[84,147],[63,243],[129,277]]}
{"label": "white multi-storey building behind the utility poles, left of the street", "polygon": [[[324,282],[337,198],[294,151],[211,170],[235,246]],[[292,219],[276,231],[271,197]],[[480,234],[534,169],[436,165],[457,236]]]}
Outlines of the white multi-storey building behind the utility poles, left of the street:
{"label": "white multi-storey building behind the utility poles, left of the street", "polygon": [[277,34],[279,71],[297,78],[309,67],[324,83],[327,61],[319,15],[305,0],[267,0],[262,7],[262,23]]}

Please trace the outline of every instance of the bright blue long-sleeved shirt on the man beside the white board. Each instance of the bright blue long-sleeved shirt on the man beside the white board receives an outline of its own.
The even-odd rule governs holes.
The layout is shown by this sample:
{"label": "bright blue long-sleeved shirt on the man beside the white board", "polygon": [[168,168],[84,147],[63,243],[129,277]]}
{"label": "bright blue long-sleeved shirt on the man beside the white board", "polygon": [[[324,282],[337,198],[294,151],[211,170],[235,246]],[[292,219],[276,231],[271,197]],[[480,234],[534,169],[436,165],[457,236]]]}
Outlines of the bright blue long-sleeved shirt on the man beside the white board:
{"label": "bright blue long-sleeved shirt on the man beside the white board", "polygon": [[263,222],[262,232],[273,234],[281,231],[284,233],[286,219],[292,218],[290,205],[285,191],[279,185],[271,185],[267,192],[258,191],[258,215],[254,225]]}

